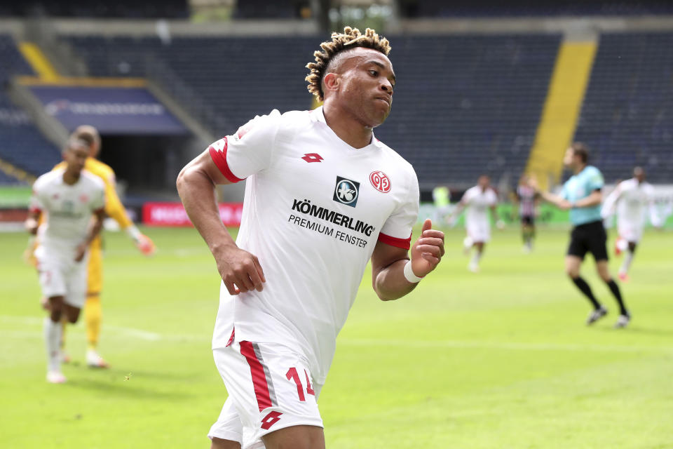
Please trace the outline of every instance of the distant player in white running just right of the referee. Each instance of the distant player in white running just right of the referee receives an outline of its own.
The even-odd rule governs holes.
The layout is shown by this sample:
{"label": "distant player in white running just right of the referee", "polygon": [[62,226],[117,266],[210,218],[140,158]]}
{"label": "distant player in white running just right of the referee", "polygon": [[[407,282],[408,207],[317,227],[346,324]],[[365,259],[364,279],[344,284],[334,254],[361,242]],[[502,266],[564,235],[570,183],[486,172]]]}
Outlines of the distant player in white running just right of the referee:
{"label": "distant player in white running just right of the referee", "polygon": [[[601,216],[610,217],[615,208],[617,209],[617,232],[619,234],[615,243],[616,253],[620,255],[623,250],[626,250],[618,276],[622,281],[627,281],[636,246],[643,236],[648,211],[652,225],[661,226],[654,206],[654,187],[649,182],[645,182],[645,170],[641,167],[634,168],[633,177],[620,182],[609,194],[603,203]],[[624,247],[622,242],[626,243]]]}

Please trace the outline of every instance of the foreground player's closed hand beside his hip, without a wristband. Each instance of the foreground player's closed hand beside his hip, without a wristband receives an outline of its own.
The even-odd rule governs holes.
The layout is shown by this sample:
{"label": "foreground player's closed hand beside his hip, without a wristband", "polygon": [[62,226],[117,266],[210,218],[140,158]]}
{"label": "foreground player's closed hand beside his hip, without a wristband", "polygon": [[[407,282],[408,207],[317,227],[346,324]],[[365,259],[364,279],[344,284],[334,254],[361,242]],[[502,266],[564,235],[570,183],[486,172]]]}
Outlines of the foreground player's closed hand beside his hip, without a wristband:
{"label": "foreground player's closed hand beside his hip, without a wristband", "polygon": [[225,246],[213,252],[217,271],[224,281],[230,295],[238,295],[250,290],[261,292],[266,282],[264,270],[261,269],[256,255],[238,248],[236,245]]}

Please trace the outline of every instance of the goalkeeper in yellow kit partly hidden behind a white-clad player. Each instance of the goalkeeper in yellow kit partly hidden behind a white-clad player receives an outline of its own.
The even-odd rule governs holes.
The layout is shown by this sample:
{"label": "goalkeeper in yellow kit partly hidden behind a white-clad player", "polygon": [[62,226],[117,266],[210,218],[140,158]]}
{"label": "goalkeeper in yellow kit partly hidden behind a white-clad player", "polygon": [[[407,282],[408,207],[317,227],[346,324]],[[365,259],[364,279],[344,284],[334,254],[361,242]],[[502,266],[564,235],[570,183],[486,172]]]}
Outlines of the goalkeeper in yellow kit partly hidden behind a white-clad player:
{"label": "goalkeeper in yellow kit partly hidden behind a white-clad player", "polygon": [[[133,222],[126,215],[126,210],[122,205],[115,189],[114,171],[110,166],[96,159],[100,152],[100,135],[93,126],[79,126],[72,133],[72,137],[87,142],[89,145],[89,157],[86,160],[84,169],[93,175],[100,177],[105,183],[105,213],[112,217],[121,229],[134,241],[135,246],[144,254],[154,254],[155,246],[149,237],[143,235]],[[54,170],[60,168],[64,162],[54,167]],[[100,234],[91,242],[89,247],[88,262],[88,286],[86,293],[86,304],[84,305],[84,319],[86,322],[86,336],[88,347],[86,351],[86,363],[95,368],[108,368],[108,364],[97,352],[98,338],[100,337],[100,325],[102,311],[100,307],[100,292],[103,283],[103,257],[102,241]],[[65,328],[63,328],[65,329]],[[64,361],[69,357],[64,351],[62,340],[62,355]]]}

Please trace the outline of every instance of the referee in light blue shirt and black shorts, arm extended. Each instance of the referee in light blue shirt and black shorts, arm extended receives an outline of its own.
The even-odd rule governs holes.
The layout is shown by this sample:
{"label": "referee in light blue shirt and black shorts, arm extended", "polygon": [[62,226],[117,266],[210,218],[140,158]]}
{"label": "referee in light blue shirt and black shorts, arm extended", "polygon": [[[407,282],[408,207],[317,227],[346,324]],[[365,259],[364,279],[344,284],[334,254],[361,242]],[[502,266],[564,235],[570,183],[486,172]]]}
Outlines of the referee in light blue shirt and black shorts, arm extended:
{"label": "referee in light blue shirt and black shorts, arm extended", "polygon": [[557,208],[570,210],[573,230],[566,253],[566,273],[594,307],[587,318],[587,324],[596,322],[608,313],[608,310],[592,293],[587,281],[580,276],[580,265],[584,256],[592,253],[599,276],[608,285],[619,305],[620,315],[615,327],[623,328],[631,320],[631,315],[624,305],[619,286],[608,272],[607,235],[601,219],[603,175],[598,168],[587,165],[588,159],[587,147],[580,142],[575,142],[567,149],[563,158],[564,166],[572,170],[573,176],[563,185],[562,194],[557,196],[549,192],[539,192],[534,180],[531,182],[531,187]]}

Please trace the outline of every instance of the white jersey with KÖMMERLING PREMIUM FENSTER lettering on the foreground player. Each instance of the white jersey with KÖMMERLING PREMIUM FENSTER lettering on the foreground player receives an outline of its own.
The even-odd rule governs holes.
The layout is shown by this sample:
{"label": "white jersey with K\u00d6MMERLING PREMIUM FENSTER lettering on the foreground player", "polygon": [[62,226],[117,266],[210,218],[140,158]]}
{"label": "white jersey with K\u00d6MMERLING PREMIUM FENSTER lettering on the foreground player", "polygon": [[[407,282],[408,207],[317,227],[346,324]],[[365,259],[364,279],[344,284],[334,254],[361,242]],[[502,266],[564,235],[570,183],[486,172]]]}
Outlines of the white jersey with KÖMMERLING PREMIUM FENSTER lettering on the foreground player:
{"label": "white jersey with K\u00d6MMERLING PREMIUM FENSTER lettering on the foreground player", "polygon": [[409,249],[419,212],[416,173],[375,138],[355,149],[322,114],[273,110],[210,146],[232,182],[247,178],[236,243],[259,257],[261,292],[222,285],[213,348],[277,342],[324,383],[336,337],[376,241]]}

